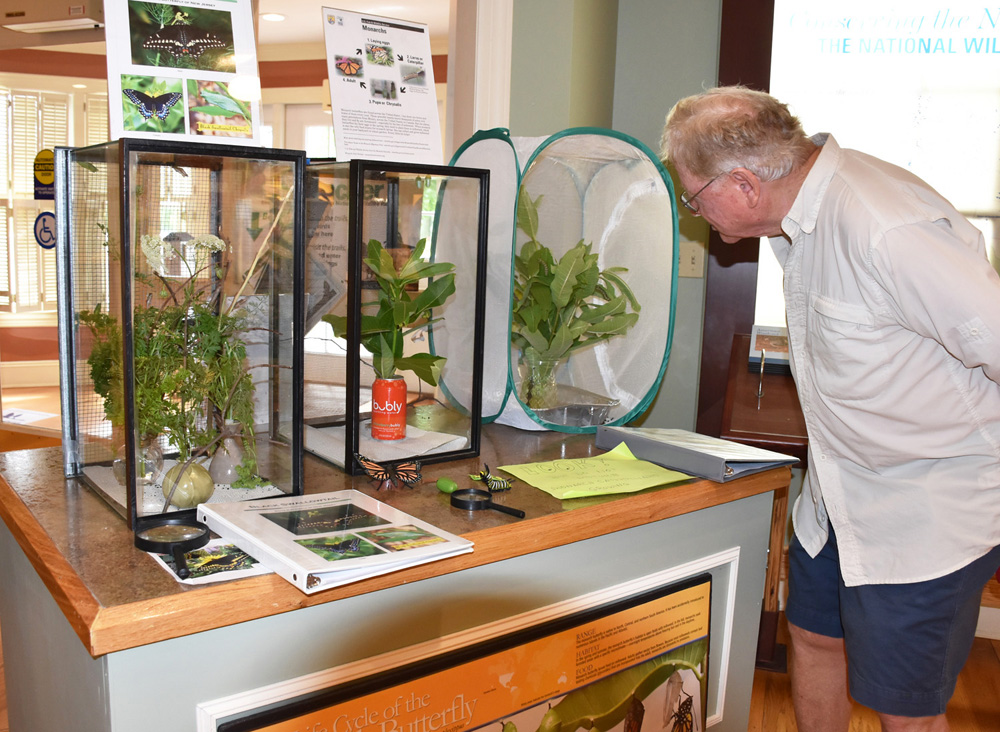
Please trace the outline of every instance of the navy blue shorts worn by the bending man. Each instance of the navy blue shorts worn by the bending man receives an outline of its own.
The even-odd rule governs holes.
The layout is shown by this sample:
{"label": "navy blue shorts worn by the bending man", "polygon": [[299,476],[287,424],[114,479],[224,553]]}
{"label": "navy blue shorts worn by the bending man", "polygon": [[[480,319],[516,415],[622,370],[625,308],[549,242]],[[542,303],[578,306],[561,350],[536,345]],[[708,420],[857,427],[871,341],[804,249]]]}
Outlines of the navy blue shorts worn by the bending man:
{"label": "navy blue shorts worn by the bending man", "polygon": [[957,572],[908,584],[846,587],[832,531],[815,559],[793,538],[788,560],[788,622],[844,639],[855,701],[901,717],[944,714],[1000,546]]}

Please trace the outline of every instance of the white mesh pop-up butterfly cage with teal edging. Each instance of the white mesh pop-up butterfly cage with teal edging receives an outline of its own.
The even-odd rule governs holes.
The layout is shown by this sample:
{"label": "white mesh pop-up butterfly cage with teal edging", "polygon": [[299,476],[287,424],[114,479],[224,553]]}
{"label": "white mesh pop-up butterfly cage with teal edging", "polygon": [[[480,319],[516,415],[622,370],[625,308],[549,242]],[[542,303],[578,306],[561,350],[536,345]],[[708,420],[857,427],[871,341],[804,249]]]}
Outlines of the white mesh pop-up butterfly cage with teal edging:
{"label": "white mesh pop-up butterfly cage with teal edging", "polygon": [[484,420],[586,433],[637,419],[673,338],[677,211],[662,163],[599,128],[484,130],[451,162],[490,171]]}

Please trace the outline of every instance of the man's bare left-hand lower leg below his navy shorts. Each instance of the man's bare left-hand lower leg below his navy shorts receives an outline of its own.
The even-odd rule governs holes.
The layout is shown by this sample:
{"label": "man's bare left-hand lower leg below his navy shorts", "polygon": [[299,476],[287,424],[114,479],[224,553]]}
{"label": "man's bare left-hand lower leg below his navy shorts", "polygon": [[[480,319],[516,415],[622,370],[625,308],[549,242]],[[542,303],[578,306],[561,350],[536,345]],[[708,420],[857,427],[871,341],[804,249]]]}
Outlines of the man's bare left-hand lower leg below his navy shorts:
{"label": "man's bare left-hand lower leg below his navy shorts", "polygon": [[792,641],[792,704],[799,732],[846,732],[851,722],[851,699],[844,639],[791,623],[788,633]]}

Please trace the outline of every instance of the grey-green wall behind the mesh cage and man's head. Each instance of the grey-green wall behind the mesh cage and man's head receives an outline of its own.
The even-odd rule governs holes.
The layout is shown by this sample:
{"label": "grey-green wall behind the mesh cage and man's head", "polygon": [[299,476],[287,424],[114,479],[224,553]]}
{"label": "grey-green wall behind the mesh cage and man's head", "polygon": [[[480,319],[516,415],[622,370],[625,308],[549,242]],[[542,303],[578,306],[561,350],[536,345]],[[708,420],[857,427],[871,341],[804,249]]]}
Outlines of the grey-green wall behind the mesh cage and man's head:
{"label": "grey-green wall behind the mesh cage and man's head", "polygon": [[[658,151],[670,107],[716,84],[721,5],[514,0],[511,134],[611,127]],[[707,242],[698,219],[682,214],[680,229],[682,239]],[[679,279],[670,362],[646,425],[695,427],[704,299],[704,278]]]}

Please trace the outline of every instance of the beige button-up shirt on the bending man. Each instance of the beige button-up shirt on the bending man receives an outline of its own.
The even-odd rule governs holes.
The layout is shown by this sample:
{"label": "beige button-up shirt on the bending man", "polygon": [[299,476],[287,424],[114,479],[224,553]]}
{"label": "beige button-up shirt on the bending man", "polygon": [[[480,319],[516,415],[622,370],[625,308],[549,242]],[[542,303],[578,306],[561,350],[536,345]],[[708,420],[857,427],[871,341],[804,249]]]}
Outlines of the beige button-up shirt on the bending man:
{"label": "beige button-up shirt on the bending man", "polygon": [[1000,545],[1000,277],[906,170],[831,136],[771,246],[809,434],[793,510],[847,585],[917,582]]}

